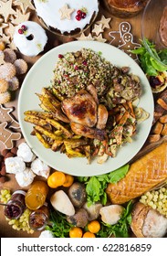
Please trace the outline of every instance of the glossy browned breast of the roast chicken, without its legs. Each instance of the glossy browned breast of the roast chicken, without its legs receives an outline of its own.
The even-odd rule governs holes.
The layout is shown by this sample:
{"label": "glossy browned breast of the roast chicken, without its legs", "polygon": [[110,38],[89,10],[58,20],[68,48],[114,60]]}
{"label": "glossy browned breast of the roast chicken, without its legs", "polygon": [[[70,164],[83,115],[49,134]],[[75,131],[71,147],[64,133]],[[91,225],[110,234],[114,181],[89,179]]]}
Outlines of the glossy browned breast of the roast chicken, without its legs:
{"label": "glossy browned breast of the roast chicken, without its legs", "polygon": [[62,109],[71,122],[93,127],[97,123],[97,103],[87,91],[62,101]]}

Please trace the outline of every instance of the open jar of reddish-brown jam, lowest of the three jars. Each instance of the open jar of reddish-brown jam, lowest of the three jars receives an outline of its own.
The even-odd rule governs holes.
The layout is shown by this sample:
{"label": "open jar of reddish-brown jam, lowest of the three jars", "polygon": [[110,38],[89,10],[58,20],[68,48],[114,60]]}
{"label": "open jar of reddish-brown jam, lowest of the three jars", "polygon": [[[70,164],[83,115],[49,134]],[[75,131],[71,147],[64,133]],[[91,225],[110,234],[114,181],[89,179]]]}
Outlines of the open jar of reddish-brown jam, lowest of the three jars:
{"label": "open jar of reddish-brown jam, lowest of the three jars", "polygon": [[46,227],[49,219],[47,202],[29,215],[29,227],[34,230],[42,230]]}

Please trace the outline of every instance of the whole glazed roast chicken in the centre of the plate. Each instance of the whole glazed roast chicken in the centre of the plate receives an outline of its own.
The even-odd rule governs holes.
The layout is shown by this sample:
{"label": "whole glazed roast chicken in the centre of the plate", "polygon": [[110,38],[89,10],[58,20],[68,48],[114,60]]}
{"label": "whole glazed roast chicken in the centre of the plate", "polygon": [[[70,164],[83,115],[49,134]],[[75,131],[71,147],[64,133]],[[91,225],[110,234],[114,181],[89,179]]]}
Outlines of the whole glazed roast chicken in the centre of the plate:
{"label": "whole glazed roast chicken in the centre of the plate", "polygon": [[108,111],[104,105],[98,104],[88,91],[78,91],[74,97],[62,101],[62,110],[66,113],[74,133],[91,139],[105,140],[104,128]]}

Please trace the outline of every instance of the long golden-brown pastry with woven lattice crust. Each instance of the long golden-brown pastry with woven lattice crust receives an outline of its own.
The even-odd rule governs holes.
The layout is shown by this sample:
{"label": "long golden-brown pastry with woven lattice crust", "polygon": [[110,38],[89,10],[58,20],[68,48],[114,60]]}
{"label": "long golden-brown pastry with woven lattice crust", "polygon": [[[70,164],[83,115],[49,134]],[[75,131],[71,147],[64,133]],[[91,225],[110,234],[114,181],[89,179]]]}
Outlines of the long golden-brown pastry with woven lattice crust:
{"label": "long golden-brown pastry with woven lattice crust", "polygon": [[167,179],[167,142],[130,165],[128,174],[116,184],[109,184],[106,192],[113,204],[123,204],[140,197]]}

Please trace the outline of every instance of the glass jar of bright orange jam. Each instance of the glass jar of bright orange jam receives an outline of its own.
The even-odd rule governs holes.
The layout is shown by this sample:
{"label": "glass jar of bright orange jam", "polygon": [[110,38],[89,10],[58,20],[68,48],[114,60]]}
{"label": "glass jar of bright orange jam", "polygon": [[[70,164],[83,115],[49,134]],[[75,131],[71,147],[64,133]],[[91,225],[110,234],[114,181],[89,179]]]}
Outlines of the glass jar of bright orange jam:
{"label": "glass jar of bright orange jam", "polygon": [[26,207],[31,210],[41,208],[46,201],[47,193],[48,187],[45,181],[34,181],[26,193]]}

